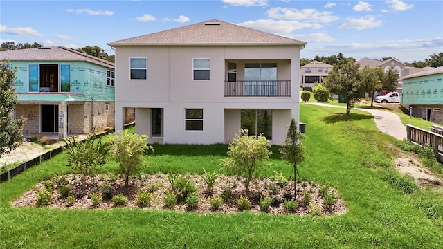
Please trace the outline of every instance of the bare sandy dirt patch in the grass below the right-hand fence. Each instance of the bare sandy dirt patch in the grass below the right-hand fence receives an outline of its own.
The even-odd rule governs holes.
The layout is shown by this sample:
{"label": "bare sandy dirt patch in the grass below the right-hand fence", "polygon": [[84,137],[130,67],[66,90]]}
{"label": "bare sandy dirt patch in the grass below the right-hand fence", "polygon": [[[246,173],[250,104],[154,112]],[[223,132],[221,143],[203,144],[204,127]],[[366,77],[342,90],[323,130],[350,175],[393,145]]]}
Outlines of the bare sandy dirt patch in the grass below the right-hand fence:
{"label": "bare sandy dirt patch in the grass below the right-hand fence", "polygon": [[396,158],[394,160],[397,170],[406,176],[410,176],[414,181],[422,186],[441,187],[443,185],[443,179],[435,176],[433,172],[423,167],[419,167],[419,163],[416,160],[410,158]]}

